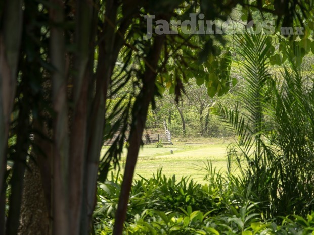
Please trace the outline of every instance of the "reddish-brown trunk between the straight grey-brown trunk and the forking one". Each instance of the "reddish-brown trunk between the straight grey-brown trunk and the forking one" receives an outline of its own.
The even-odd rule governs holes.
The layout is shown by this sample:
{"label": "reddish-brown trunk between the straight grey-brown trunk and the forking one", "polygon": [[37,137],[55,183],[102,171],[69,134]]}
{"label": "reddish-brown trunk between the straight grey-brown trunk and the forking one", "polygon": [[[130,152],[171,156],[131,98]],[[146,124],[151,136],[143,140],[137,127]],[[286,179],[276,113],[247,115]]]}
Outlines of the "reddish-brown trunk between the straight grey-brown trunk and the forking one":
{"label": "reddish-brown trunk between the straight grey-brown trunk and the forking one", "polygon": [[80,232],[80,220],[83,203],[84,164],[86,162],[86,133],[88,115],[88,82],[92,81],[93,69],[89,68],[94,61],[94,37],[92,31],[92,3],[87,0],[76,3],[76,44],[75,69],[77,76],[73,80],[73,121],[70,134],[69,155],[69,219],[70,231],[73,235]]}

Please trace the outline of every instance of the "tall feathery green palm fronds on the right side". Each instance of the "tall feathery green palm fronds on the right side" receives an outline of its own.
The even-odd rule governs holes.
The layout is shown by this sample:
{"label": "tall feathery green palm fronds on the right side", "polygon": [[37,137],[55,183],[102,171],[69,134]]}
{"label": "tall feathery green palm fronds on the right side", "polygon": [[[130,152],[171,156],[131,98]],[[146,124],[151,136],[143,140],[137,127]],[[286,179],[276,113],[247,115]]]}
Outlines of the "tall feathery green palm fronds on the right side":
{"label": "tall feathery green palm fronds on the right side", "polygon": [[287,44],[289,63],[275,79],[271,38],[247,33],[236,42],[246,83],[239,105],[245,111],[219,110],[239,136],[228,157],[241,172],[242,198],[260,202],[265,217],[304,215],[313,208],[314,92],[304,86],[309,78],[301,73],[300,48]]}

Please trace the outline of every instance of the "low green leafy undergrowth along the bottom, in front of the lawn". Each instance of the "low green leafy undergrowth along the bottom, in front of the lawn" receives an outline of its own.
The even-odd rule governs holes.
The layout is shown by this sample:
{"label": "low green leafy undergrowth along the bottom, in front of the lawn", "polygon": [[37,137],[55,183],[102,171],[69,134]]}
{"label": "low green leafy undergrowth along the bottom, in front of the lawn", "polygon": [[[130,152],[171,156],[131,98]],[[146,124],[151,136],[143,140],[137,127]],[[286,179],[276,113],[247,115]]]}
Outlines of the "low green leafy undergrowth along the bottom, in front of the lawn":
{"label": "low green leafy undergrowth along the bottom, in front of the lawn", "polygon": [[[314,212],[264,221],[259,203],[235,200],[236,178],[215,174],[209,185],[167,178],[161,170],[134,181],[125,234],[314,234]],[[113,179],[98,187],[95,234],[112,233],[121,184]]]}

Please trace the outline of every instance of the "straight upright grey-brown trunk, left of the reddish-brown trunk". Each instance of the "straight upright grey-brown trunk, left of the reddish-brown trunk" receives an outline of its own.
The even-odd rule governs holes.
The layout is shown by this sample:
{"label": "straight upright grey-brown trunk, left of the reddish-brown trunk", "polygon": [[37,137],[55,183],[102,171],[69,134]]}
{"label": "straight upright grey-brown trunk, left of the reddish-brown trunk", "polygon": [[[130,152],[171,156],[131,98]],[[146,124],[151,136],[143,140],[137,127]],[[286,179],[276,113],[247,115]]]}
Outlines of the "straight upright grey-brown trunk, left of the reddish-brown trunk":
{"label": "straight upright grey-brown trunk, left of the reddish-brown trunk", "polygon": [[[53,119],[53,234],[69,233],[69,140],[68,140],[68,106],[67,79],[65,78],[65,39],[64,3],[52,0],[50,19],[55,24],[51,27],[50,54],[55,67],[52,73]],[[58,26],[59,25],[59,26]]]}

